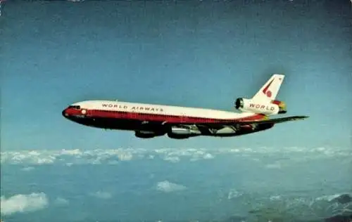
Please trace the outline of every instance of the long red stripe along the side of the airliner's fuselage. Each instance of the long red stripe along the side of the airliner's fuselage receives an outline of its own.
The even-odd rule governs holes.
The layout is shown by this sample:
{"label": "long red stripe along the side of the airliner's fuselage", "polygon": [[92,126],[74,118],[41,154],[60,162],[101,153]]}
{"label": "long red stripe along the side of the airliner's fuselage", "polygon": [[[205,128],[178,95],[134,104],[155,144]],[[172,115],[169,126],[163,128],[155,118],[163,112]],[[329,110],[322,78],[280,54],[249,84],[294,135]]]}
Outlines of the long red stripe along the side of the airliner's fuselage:
{"label": "long red stripe along the side of the airliner's fuselage", "polygon": [[264,115],[256,114],[249,117],[238,119],[214,119],[204,117],[188,117],[177,115],[160,115],[140,112],[120,112],[115,110],[87,110],[87,117],[111,118],[111,119],[136,119],[149,122],[168,122],[168,123],[217,123],[217,122],[239,122],[244,120],[263,119]]}

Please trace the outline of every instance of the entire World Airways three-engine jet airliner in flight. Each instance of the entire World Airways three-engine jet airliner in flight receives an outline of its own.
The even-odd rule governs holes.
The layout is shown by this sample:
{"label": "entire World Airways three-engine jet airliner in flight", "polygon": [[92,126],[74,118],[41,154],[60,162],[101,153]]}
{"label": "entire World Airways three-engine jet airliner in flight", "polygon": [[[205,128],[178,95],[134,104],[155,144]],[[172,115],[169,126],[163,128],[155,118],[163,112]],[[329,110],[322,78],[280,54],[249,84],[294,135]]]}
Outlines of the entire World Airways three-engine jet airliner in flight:
{"label": "entire World Airways three-engine jet airliner in flight", "polygon": [[272,74],[252,98],[237,98],[234,107],[240,112],[119,100],[86,100],[69,105],[62,115],[85,126],[134,131],[134,136],[138,138],[165,135],[174,139],[240,136],[271,129],[275,124],[308,118],[269,118],[287,112],[286,104],[275,100],[283,80],[284,74]]}

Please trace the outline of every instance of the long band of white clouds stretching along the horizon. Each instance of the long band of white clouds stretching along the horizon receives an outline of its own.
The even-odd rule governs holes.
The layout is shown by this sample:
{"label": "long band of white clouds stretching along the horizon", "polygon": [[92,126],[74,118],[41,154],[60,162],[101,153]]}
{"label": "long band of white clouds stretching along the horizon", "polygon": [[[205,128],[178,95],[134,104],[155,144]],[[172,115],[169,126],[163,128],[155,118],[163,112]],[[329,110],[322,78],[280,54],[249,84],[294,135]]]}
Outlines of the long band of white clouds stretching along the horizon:
{"label": "long band of white clouds stretching along the horizon", "polygon": [[[19,150],[1,152],[1,164],[118,164],[137,159],[162,159],[177,163],[182,161],[210,160],[219,156],[241,156],[253,160],[263,155],[280,155],[294,161],[352,157],[351,148],[118,148],[111,150]],[[279,168],[281,162],[268,165]],[[27,168],[23,170],[31,170]]]}

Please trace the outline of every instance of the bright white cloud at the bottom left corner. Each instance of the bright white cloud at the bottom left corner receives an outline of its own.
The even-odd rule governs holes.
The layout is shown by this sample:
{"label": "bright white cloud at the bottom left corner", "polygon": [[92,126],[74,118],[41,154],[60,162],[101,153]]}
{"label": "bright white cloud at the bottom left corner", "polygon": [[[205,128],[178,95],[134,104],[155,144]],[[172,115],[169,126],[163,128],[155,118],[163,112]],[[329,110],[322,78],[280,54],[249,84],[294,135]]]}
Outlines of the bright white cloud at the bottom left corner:
{"label": "bright white cloud at the bottom left corner", "polygon": [[1,196],[1,214],[10,215],[18,212],[37,211],[44,209],[49,204],[44,192],[31,193],[30,195],[14,195],[6,199]]}

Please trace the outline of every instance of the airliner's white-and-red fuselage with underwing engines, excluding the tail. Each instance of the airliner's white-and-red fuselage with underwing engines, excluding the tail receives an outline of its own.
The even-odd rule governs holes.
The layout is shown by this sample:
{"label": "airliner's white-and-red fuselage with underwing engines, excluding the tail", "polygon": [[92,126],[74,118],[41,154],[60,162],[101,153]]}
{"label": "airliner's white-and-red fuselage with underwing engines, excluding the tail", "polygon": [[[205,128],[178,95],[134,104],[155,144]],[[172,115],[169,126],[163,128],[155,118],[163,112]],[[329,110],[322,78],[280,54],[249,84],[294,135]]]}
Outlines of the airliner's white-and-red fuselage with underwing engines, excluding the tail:
{"label": "airliner's white-and-red fuselage with underwing engines, excluding the tail", "polygon": [[[237,136],[268,129],[267,126],[253,128],[250,124],[234,127],[237,122],[265,118],[262,114],[111,100],[74,103],[63,110],[63,116],[86,126],[134,131],[141,138],[162,136],[165,133],[170,138]],[[223,126],[224,123],[230,126]],[[208,127],[208,124],[213,125]]]}

